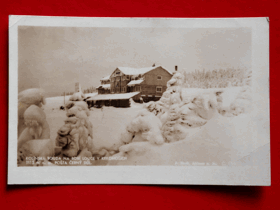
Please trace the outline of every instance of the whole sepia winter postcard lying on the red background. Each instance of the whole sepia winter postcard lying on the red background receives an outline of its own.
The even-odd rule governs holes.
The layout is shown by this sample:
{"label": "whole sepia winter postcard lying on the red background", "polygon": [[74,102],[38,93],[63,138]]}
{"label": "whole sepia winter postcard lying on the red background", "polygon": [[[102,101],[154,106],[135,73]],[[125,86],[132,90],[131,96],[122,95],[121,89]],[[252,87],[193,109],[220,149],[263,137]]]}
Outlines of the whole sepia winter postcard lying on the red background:
{"label": "whole sepia winter postcard lying on the red background", "polygon": [[8,184],[270,185],[268,26],[10,16]]}

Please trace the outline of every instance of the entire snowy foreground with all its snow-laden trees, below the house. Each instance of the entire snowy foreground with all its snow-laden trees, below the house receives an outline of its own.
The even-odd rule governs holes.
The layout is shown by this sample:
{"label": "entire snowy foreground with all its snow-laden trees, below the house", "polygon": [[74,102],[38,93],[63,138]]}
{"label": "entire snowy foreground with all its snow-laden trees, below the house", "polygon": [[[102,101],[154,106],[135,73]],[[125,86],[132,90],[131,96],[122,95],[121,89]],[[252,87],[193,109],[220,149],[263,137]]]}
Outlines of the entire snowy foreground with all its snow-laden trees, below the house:
{"label": "entire snowy foreground with all its snow-laden trees, below the house", "polygon": [[167,87],[157,102],[90,110],[83,99],[94,94],[20,93],[18,164],[34,165],[28,156],[50,166],[268,164],[269,110],[250,73],[239,87],[199,89],[177,72]]}

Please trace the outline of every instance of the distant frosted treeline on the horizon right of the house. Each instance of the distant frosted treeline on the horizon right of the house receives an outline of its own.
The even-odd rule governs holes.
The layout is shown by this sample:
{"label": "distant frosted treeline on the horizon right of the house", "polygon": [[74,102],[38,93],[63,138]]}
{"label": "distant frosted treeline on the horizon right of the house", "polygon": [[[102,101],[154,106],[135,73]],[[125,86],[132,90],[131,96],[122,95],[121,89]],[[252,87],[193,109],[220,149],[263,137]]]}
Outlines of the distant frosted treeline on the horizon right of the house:
{"label": "distant frosted treeline on the horizon right of the house", "polygon": [[242,86],[246,83],[248,75],[246,69],[219,69],[212,71],[195,70],[184,72],[184,85],[188,88],[225,88],[228,86]]}

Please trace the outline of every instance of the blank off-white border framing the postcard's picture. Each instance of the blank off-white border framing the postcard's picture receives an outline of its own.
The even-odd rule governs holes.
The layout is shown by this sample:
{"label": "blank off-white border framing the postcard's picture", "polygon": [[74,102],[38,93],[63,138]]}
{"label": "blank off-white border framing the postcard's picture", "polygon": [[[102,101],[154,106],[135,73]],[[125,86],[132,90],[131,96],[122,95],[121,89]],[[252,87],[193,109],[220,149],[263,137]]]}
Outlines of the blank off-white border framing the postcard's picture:
{"label": "blank off-white border framing the postcard's picture", "polygon": [[[252,29],[254,100],[269,119],[269,23],[267,18],[9,17],[8,184],[217,184],[270,185],[266,166],[57,166],[17,167],[18,26],[173,27]],[[259,105],[257,105],[259,106]],[[265,110],[263,110],[265,108]],[[254,135],[258,139],[258,133]],[[264,144],[269,144],[265,139]]]}

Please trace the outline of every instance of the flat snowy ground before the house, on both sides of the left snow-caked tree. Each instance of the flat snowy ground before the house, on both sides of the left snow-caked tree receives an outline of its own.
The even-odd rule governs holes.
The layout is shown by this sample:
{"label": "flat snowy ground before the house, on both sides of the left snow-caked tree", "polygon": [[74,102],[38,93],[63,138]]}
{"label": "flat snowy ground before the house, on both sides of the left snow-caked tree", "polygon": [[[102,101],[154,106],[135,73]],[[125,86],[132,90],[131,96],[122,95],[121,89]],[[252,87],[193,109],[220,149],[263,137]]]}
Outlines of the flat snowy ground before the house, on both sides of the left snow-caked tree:
{"label": "flat snowy ground before the house, on both sides of the left snow-caked tree", "polygon": [[[88,95],[87,96],[92,96]],[[70,96],[65,97],[67,102]],[[50,138],[55,139],[58,129],[66,120],[66,111],[59,107],[64,104],[64,97],[53,97],[46,99],[43,109],[50,126]],[[121,132],[127,124],[135,118],[142,109],[142,104],[132,104],[130,108],[103,107],[102,109],[91,108],[89,119],[93,125],[93,143],[96,150],[106,148],[107,150],[118,150],[121,142]]]}

